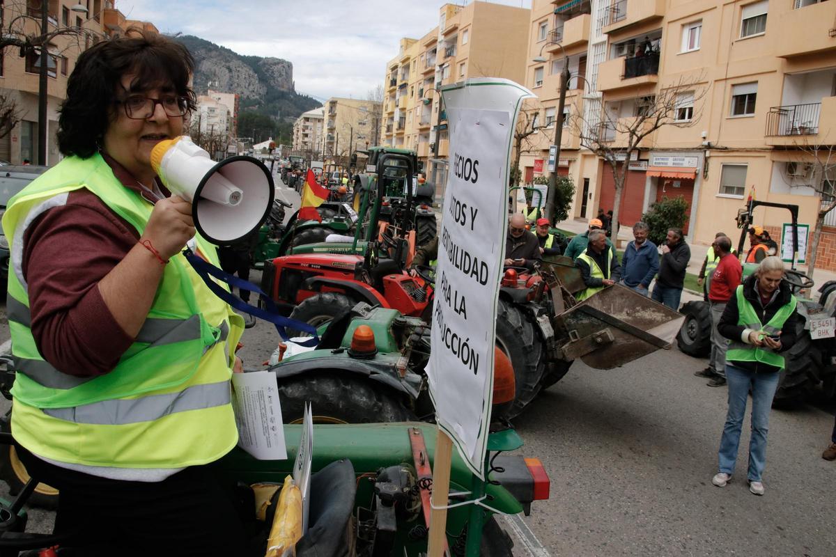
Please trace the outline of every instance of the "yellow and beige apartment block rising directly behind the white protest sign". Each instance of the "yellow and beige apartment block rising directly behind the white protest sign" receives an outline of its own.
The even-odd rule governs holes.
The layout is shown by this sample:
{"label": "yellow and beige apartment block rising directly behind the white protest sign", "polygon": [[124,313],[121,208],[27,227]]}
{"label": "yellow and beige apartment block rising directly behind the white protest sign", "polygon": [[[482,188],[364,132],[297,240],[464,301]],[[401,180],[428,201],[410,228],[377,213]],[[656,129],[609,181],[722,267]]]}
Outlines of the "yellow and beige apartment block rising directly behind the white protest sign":
{"label": "yellow and beige apartment block rising directly behind the white protest sign", "polygon": [[[386,64],[381,144],[415,149],[427,164],[446,160],[446,114],[437,91],[466,78],[523,83],[530,11],[488,2],[444,4],[438,25],[421,38],[402,38]],[[446,178],[439,172],[440,180]],[[436,182],[440,195],[443,182]]]}

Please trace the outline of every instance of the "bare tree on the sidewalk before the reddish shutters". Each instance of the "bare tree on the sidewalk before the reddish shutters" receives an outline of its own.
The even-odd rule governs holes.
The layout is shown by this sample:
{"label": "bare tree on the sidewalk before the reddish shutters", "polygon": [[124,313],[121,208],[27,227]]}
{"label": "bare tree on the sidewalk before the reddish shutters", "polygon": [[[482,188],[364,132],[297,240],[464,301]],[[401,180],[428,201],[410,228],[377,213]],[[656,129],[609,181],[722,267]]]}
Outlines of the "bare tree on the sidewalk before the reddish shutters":
{"label": "bare tree on the sidewalk before the reddish shutters", "polygon": [[599,106],[587,109],[585,115],[581,110],[572,111],[570,126],[573,133],[578,134],[581,146],[597,154],[613,171],[613,239],[619,234],[619,206],[632,154],[640,147],[650,147],[647,143],[663,126],[690,128],[699,122],[702,112],[700,101],[707,91],[699,86],[702,82],[701,76],[680,78],[670,86],[660,87],[656,94],[638,97],[634,99],[635,108],[631,117],[619,114],[614,104],[601,104],[602,101],[595,99],[584,101],[599,103]]}

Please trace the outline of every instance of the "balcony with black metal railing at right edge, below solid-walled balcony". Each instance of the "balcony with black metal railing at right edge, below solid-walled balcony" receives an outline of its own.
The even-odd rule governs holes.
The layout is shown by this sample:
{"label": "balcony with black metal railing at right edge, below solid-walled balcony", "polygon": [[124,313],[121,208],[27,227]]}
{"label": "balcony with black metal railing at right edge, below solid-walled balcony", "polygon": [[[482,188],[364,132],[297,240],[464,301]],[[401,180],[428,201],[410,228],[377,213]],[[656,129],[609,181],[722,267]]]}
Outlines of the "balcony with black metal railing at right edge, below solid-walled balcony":
{"label": "balcony with black metal railing at right edge, below solid-walled balcony", "polygon": [[772,107],[764,135],[768,145],[836,144],[836,97]]}

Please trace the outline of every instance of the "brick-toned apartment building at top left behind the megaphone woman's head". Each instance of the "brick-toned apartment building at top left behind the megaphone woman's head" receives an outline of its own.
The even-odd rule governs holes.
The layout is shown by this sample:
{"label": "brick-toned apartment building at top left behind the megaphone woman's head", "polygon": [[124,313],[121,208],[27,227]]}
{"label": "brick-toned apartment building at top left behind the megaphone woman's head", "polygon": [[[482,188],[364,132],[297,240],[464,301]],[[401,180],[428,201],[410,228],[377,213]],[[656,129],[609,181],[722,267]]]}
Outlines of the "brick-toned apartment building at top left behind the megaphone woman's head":
{"label": "brick-toned apartment building at top left behind the megaphone woman's head", "polygon": [[[41,7],[47,9],[47,29],[41,28]],[[120,31],[120,16],[113,2],[102,0],[13,0],[0,3],[4,38],[48,38],[47,60],[47,149],[46,164],[54,165],[61,155],[55,141],[58,109],[66,97],[67,78],[79,53],[99,40]],[[121,16],[121,22],[125,20]],[[109,24],[111,23],[111,24]],[[150,23],[133,22],[150,31]],[[32,40],[37,39],[37,40]],[[23,56],[21,54],[23,53]],[[38,48],[8,47],[0,52],[0,94],[14,104],[20,121],[0,137],[0,160],[20,164],[38,162],[38,89],[40,51]]]}

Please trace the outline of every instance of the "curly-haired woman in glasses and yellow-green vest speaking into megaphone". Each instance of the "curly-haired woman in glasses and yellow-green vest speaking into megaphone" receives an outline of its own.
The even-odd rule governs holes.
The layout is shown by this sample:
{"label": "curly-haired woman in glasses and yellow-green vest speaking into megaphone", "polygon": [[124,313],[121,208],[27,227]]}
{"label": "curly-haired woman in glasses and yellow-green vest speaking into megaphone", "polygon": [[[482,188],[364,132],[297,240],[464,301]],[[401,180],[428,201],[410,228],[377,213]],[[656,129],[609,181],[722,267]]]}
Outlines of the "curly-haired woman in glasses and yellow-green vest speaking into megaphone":
{"label": "curly-haired woman in glasses and yellow-green vest speaking into megaphone", "polygon": [[218,265],[150,163],[195,109],[193,68],[158,34],[84,51],[60,111],[65,158],[3,217],[13,437],[33,477],[59,489],[56,532],[102,554],[247,554],[208,469],[237,443],[243,320],[181,255],[188,242]]}

